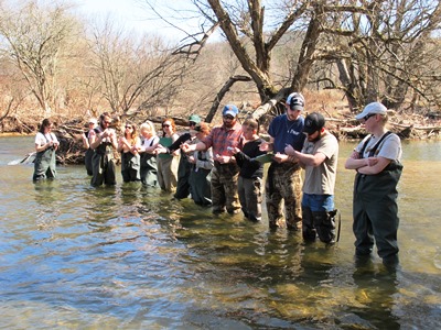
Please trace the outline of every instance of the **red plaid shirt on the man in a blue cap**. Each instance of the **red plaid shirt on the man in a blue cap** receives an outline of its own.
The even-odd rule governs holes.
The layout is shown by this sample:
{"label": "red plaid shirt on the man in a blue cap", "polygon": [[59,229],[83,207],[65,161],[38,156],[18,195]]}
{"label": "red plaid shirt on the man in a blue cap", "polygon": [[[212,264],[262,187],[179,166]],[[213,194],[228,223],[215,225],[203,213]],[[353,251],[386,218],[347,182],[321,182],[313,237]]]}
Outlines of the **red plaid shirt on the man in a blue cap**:
{"label": "red plaid shirt on the man in a blue cap", "polygon": [[213,147],[214,155],[228,156],[228,146],[237,146],[240,150],[243,147],[241,124],[236,122],[229,130],[224,125],[216,127],[202,142],[207,148]]}

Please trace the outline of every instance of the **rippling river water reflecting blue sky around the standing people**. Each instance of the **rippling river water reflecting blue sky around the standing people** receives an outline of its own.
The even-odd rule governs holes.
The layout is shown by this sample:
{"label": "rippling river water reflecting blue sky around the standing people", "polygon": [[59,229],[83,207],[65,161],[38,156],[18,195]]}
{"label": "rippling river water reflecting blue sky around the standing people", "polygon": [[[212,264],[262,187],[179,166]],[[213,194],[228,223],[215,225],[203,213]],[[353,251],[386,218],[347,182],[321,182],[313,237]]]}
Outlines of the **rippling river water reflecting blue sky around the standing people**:
{"label": "rippling river water reflecting blue sky around the standing people", "polygon": [[[0,308],[21,328],[434,329],[441,321],[435,227],[440,143],[405,144],[400,257],[356,264],[353,174],[341,146],[341,241],[303,244],[239,215],[137,184],[92,188],[83,166],[32,184],[32,165],[8,166],[33,138],[0,139]],[[13,143],[11,143],[13,142]],[[14,148],[8,145],[15,145]],[[4,146],[4,147],[3,147]]]}

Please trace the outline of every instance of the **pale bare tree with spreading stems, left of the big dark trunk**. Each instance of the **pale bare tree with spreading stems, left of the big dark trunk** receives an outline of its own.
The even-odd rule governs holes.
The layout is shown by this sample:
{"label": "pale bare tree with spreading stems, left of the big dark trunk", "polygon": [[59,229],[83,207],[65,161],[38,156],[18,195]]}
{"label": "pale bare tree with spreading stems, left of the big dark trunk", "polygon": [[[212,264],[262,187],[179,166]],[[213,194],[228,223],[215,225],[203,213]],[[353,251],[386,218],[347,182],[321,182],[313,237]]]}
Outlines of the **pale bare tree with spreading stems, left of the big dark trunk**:
{"label": "pale bare tree with spreading stems, left of the big dark trunk", "polygon": [[95,78],[111,109],[123,114],[164,105],[175,95],[186,59],[158,37],[137,41],[107,20],[95,28],[90,48]]}

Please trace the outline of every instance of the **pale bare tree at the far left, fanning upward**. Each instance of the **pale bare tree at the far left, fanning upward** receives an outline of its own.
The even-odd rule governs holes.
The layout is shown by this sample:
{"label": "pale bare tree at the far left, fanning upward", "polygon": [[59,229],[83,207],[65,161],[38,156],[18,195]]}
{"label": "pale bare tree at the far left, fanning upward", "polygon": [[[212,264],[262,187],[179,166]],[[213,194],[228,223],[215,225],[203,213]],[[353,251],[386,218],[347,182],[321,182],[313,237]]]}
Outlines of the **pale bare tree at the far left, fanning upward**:
{"label": "pale bare tree at the far left, fanning upward", "polygon": [[41,7],[31,1],[14,9],[0,8],[1,51],[8,54],[36,98],[40,107],[51,111],[55,101],[58,62],[75,20],[60,4]]}

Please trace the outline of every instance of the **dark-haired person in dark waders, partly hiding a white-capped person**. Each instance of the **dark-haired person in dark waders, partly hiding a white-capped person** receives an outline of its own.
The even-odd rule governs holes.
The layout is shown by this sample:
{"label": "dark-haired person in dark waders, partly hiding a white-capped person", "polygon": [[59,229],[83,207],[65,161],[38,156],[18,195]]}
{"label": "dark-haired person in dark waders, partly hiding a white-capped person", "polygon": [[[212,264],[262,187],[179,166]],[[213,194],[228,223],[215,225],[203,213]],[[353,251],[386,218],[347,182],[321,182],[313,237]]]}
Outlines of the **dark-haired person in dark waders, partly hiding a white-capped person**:
{"label": "dark-haired person in dark waders, partly hiding a white-capped person", "polygon": [[89,144],[94,150],[90,185],[94,187],[116,185],[114,150],[118,147],[118,141],[110,123],[110,114],[105,112],[99,117],[99,125],[89,132]]}

